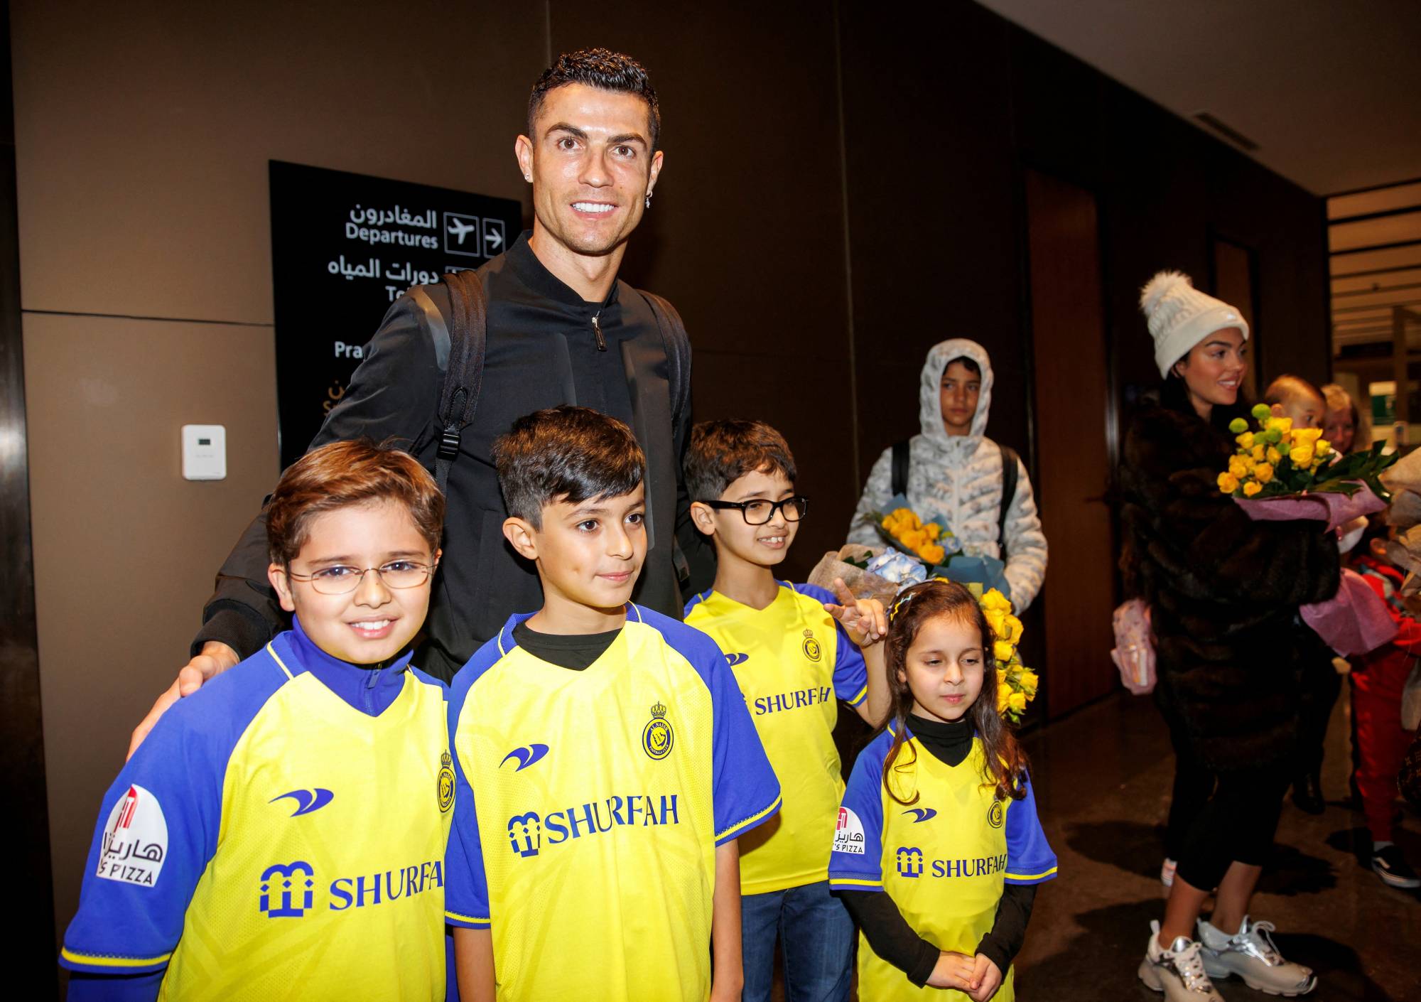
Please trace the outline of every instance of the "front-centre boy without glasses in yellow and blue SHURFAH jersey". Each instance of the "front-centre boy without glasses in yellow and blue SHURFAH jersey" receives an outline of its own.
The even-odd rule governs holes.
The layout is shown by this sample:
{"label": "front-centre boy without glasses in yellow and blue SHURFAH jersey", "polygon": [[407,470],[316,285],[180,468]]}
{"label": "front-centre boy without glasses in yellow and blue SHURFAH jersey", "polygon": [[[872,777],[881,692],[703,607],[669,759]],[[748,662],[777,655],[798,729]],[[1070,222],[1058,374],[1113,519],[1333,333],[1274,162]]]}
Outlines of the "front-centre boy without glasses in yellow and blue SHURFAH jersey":
{"label": "front-centre boy without glasses in yellow and blue SHURFAH jersey", "polygon": [[[631,429],[537,411],[493,448],[543,607],[455,677],[446,918],[466,999],[740,995],[736,839],[780,789],[725,657],[630,601],[651,533]],[[713,984],[712,984],[713,961]]]}

